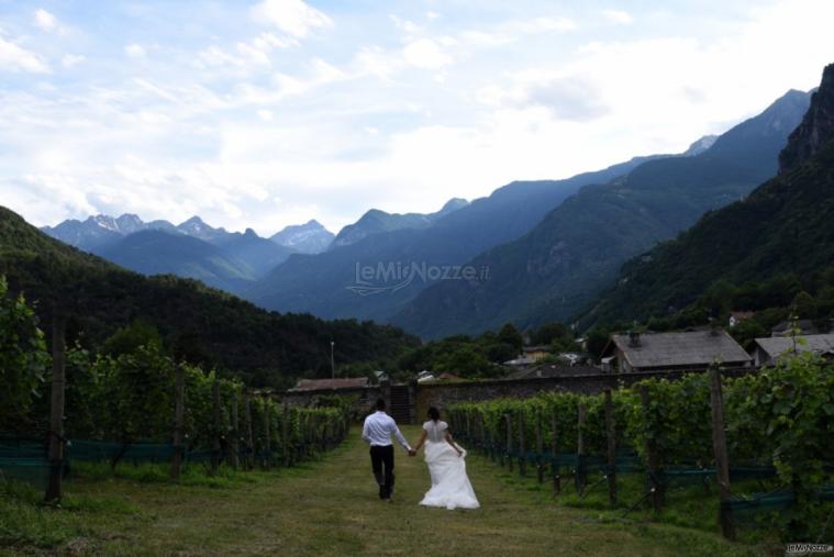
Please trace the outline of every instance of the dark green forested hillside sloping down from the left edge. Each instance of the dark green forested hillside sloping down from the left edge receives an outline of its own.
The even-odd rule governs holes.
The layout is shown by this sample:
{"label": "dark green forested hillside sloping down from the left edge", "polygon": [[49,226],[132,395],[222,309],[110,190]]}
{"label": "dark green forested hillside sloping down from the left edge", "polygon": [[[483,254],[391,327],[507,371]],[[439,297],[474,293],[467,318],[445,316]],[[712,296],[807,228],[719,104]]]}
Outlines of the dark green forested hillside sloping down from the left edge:
{"label": "dark green forested hillside sloping down from the left edge", "polygon": [[194,280],[146,278],[51,238],[2,207],[0,275],[35,303],[45,327],[62,308],[71,336],[97,345],[143,319],[175,352],[255,385],[286,385],[307,370],[329,374],[331,341],[342,365],[392,358],[416,343],[393,327],[280,315]]}

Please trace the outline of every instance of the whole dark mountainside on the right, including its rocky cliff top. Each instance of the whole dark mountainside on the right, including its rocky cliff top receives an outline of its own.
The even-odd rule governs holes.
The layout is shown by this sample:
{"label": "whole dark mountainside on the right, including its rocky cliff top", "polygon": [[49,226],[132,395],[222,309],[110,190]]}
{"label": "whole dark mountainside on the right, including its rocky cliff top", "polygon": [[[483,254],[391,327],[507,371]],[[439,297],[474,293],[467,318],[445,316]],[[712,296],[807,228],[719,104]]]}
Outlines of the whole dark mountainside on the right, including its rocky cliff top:
{"label": "whole dark mountainside on the right, including its rocky cliff top", "polygon": [[834,261],[834,64],[823,71],[776,178],[630,260],[585,325],[664,316],[711,285],[811,277]]}

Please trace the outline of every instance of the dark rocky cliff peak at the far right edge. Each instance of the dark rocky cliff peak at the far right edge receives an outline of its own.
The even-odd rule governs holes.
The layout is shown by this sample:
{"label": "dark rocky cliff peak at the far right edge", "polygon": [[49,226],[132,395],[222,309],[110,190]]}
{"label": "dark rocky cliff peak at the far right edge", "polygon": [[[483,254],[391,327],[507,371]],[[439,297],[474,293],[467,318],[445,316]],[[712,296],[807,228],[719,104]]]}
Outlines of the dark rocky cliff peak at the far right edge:
{"label": "dark rocky cliff peak at the far right edge", "polygon": [[802,123],[793,130],[779,155],[779,171],[798,167],[834,140],[834,64],[822,73],[820,87],[811,96],[811,105]]}

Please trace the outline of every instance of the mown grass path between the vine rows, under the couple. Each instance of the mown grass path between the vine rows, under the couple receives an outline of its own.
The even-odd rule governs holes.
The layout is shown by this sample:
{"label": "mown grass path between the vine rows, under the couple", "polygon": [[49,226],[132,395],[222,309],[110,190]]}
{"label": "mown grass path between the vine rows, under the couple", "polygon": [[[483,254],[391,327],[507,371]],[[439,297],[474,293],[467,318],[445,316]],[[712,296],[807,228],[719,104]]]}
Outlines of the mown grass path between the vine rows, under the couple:
{"label": "mown grass path between the vine rows, under the couple", "polygon": [[[410,439],[414,426],[404,427]],[[718,536],[654,524],[598,524],[513,483],[482,457],[468,460],[477,511],[424,509],[422,454],[397,447],[393,503],[377,499],[356,430],[322,460],[235,489],[77,481],[76,493],[126,499],[138,516],[92,525],[78,553],[104,555],[735,555]]]}

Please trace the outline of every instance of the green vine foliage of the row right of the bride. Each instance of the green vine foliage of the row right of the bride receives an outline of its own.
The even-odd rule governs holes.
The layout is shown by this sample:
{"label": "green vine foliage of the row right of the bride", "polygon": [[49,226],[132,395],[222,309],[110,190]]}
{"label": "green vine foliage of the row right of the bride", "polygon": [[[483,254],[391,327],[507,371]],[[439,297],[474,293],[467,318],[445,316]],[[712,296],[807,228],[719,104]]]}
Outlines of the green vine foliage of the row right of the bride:
{"label": "green vine foliage of the row right of the bride", "polygon": [[[618,450],[636,450],[647,466],[652,443],[661,472],[714,467],[709,383],[709,374],[690,374],[677,381],[648,379],[613,391]],[[786,537],[807,539],[808,525],[820,524],[821,516],[824,521],[819,492],[834,481],[834,365],[803,353],[776,368],[725,378],[722,383],[731,469],[774,466],[777,481],[797,495],[797,504],[779,524]],[[534,446],[537,420],[549,448],[555,417],[557,452],[575,453],[580,404],[586,408],[587,454],[602,456],[607,446],[602,396],[546,392],[526,400],[460,403],[449,408],[449,417],[458,431],[469,424],[479,432],[482,423],[487,439],[505,448],[510,416],[513,452],[520,441],[520,414],[527,449]]]}

